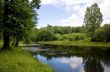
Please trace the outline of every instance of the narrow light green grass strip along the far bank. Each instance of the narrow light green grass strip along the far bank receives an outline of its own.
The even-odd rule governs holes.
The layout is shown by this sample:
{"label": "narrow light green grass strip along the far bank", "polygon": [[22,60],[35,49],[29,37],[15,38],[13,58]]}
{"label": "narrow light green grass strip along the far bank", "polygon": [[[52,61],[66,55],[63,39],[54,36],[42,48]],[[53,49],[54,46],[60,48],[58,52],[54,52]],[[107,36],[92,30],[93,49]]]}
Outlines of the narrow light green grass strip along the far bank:
{"label": "narrow light green grass strip along the far bank", "polygon": [[38,42],[40,44],[50,44],[50,45],[73,45],[73,46],[101,46],[110,47],[110,42],[84,42],[84,41],[43,41]]}

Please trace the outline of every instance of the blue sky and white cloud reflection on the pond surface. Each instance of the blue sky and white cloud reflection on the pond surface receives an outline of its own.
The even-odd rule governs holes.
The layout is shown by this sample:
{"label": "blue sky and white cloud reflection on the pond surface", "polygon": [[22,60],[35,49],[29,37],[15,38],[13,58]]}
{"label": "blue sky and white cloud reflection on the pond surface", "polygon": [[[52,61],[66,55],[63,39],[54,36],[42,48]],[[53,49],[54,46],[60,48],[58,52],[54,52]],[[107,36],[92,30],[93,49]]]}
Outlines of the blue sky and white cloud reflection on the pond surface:
{"label": "blue sky and white cloud reflection on the pond surface", "polygon": [[71,58],[52,58],[47,60],[46,57],[37,55],[37,58],[43,62],[51,65],[56,72],[84,72],[83,59],[78,57]]}

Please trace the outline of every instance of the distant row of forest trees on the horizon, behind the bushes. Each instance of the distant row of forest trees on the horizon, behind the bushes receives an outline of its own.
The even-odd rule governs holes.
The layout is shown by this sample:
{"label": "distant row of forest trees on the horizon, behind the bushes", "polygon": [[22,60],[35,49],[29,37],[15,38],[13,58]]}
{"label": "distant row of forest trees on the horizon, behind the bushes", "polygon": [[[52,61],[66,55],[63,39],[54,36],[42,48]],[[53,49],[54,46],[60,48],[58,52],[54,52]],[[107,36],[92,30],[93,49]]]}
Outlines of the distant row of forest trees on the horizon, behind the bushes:
{"label": "distant row of forest trees on the horizon, behind the bushes", "polygon": [[69,33],[84,33],[84,26],[79,27],[71,27],[71,26],[51,26],[47,25],[47,27],[42,27],[39,30],[48,30],[54,34],[69,34]]}

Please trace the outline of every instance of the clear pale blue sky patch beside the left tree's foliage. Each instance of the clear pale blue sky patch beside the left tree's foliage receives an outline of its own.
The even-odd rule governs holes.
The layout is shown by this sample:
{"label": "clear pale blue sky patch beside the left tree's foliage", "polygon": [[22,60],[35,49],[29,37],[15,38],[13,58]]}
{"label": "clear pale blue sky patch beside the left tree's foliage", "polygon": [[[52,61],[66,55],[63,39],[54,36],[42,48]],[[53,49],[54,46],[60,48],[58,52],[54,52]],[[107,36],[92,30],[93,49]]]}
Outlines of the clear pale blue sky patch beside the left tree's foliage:
{"label": "clear pale blue sky patch beside the left tree's foliage", "polygon": [[58,25],[61,23],[61,19],[71,15],[70,13],[67,13],[64,8],[58,8],[52,5],[42,5],[38,10],[38,14],[38,26],[40,27],[46,26],[47,24]]}

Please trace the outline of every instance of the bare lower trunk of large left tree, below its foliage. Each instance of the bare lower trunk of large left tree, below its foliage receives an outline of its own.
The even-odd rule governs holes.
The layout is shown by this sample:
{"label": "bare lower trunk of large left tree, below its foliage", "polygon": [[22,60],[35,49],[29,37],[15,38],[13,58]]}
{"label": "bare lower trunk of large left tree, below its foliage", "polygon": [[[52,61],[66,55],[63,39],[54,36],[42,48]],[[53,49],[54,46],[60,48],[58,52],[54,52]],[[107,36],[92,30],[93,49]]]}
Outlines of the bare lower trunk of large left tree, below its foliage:
{"label": "bare lower trunk of large left tree, below its foliage", "polygon": [[9,49],[10,48],[10,37],[7,32],[3,32],[3,49]]}

